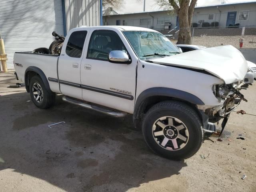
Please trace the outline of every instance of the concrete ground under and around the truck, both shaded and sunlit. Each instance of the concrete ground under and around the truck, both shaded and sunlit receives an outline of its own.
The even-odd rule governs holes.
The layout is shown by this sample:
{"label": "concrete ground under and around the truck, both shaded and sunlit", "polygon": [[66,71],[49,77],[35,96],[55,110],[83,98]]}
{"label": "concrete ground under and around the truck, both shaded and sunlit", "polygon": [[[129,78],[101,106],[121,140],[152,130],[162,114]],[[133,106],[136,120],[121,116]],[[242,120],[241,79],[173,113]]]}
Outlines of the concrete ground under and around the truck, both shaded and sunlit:
{"label": "concrete ground under and around the truck, both shaded and sunlit", "polygon": [[256,83],[242,90],[249,102],[238,110],[247,114],[232,112],[222,142],[211,136],[191,158],[172,161],[148,149],[131,116],[112,118],[61,96],[40,110],[24,88],[7,88],[16,82],[0,74],[0,192],[256,191]]}

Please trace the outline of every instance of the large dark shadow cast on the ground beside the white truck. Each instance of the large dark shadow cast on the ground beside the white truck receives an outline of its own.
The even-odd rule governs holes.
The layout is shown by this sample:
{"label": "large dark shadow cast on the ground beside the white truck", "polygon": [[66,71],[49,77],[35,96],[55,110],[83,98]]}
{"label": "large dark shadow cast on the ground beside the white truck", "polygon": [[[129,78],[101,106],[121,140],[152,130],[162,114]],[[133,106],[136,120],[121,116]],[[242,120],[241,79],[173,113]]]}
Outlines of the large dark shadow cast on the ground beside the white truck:
{"label": "large dark shadow cast on the ground beside the white truck", "polygon": [[[66,191],[125,192],[176,177],[186,166],[153,154],[132,116],[113,118],[64,103],[61,96],[48,110],[29,100],[28,93],[0,96],[0,171],[11,168]],[[61,121],[66,123],[48,128]]]}

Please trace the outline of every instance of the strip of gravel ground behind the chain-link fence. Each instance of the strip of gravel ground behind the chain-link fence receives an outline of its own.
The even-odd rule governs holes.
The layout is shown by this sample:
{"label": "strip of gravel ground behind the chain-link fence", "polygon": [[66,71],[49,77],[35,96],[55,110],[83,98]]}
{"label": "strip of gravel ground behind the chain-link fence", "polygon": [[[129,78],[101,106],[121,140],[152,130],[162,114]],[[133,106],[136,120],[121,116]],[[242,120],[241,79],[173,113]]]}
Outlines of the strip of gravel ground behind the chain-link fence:
{"label": "strip of gravel ground behind the chain-link fence", "polygon": [[[206,47],[215,47],[221,45],[232,45],[239,48],[239,39],[241,36],[195,36],[193,37],[193,45],[202,45]],[[176,44],[177,41],[173,41]],[[254,42],[254,43],[249,43]],[[244,46],[246,48],[256,48],[256,35],[244,36]]]}

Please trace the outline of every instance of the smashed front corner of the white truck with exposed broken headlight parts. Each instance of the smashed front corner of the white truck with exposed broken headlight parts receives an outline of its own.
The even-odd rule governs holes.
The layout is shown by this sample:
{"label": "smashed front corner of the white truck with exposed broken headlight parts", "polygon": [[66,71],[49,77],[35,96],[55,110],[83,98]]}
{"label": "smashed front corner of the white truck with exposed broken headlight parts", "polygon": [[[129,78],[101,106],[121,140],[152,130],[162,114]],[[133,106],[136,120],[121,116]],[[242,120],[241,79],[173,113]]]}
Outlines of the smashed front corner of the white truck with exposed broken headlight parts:
{"label": "smashed front corner of the white truck with exposed broken headlight parts", "polygon": [[240,93],[242,82],[236,82],[233,84],[221,84],[214,85],[212,87],[212,91],[215,97],[219,100],[219,102],[224,101],[224,104],[221,108],[209,108],[205,110],[205,113],[209,116],[209,118],[224,118],[229,115],[242,100],[247,100],[244,98],[244,95]]}

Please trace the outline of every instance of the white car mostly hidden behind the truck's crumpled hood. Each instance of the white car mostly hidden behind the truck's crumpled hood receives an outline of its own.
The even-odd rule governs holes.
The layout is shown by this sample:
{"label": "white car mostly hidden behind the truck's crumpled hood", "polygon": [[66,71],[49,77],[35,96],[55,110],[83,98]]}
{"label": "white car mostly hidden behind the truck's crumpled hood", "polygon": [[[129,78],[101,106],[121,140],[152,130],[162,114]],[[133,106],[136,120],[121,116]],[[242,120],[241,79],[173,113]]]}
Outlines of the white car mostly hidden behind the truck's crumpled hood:
{"label": "white car mostly hidden behind the truck's crumpled hood", "polygon": [[[187,44],[178,44],[176,47],[180,48],[182,52],[194,51],[199,49],[207,48],[201,45],[187,45]],[[256,64],[250,61],[247,61],[248,64],[248,71],[244,76],[244,83],[250,84],[256,80]]]}

